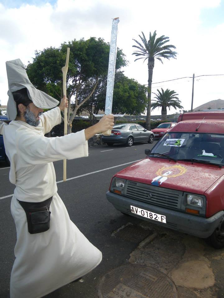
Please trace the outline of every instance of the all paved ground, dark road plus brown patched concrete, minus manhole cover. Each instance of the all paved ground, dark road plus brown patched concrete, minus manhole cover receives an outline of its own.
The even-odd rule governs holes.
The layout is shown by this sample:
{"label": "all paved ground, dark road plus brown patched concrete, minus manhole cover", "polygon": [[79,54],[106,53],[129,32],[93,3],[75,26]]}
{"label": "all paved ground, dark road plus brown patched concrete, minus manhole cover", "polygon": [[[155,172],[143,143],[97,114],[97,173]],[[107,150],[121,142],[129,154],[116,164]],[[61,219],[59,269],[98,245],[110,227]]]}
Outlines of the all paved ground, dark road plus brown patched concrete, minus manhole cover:
{"label": "all paved ground, dark road plus brown patched concrete, minus manhole cover", "polygon": [[[175,284],[179,298],[224,297],[224,250],[211,248],[203,239],[157,227],[141,219],[125,216],[106,200],[112,176],[145,158],[144,150],[155,144],[133,147],[114,145],[89,148],[89,157],[67,161],[68,181],[63,179],[63,161],[54,163],[58,193],[71,220],[103,253],[101,264],[83,277],[45,298],[96,298],[97,285],[111,270],[128,264],[150,266],[166,274]],[[0,297],[9,297],[9,281],[14,261],[15,226],[10,214],[14,186],[8,181],[9,168],[0,164],[2,216]],[[145,237],[155,235],[141,248]],[[148,235],[148,236],[147,236]]]}

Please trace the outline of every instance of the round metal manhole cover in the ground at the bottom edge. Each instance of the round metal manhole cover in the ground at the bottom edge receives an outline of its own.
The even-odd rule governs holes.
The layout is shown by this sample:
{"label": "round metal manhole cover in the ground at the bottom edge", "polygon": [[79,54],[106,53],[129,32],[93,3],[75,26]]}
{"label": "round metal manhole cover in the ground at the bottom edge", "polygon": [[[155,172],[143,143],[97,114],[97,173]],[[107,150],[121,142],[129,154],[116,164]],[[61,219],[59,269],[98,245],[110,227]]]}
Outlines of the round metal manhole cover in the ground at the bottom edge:
{"label": "round metal manhole cover in the ground at the bottom edge", "polygon": [[177,298],[175,284],[164,273],[141,265],[124,265],[101,278],[98,298]]}

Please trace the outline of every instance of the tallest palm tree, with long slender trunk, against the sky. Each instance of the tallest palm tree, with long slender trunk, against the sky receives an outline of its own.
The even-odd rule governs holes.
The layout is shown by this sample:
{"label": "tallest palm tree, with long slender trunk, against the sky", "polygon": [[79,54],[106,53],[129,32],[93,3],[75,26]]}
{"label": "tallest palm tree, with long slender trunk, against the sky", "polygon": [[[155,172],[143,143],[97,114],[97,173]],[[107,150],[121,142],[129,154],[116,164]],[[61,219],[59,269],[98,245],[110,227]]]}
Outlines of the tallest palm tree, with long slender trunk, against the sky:
{"label": "tallest palm tree, with long slender trunk, against the sky", "polygon": [[[151,88],[152,88],[152,71],[154,68],[155,58],[159,61],[162,61],[161,58],[175,58],[177,52],[174,52],[172,49],[176,47],[173,45],[167,45],[169,37],[164,35],[156,38],[156,31],[153,34],[149,33],[149,40],[147,41],[145,38],[144,33],[142,32],[142,36],[138,35],[142,41],[142,43],[138,42],[137,40],[133,39],[138,45],[133,45],[136,47],[138,51],[133,52],[132,55],[135,56],[142,56],[140,58],[135,59],[148,59],[148,104],[147,104],[147,116],[146,116],[146,129],[150,130],[150,120],[151,120]],[[143,61],[143,62],[144,62]]]}

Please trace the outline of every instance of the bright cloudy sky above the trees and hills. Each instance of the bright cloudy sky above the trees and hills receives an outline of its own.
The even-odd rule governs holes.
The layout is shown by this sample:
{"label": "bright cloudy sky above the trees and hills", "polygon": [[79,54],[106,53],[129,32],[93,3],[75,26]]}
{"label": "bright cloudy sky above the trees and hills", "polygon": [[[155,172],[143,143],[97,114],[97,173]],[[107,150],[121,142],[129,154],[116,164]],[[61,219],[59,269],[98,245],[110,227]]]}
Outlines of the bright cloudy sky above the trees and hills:
{"label": "bright cloudy sky above the trees and hills", "polygon": [[[115,17],[120,18],[117,45],[129,61],[123,69],[126,76],[147,84],[147,61],[134,62],[132,39],[139,40],[142,31],[149,38],[149,32],[156,30],[157,37],[170,38],[178,55],[163,64],[156,60],[152,83],[188,78],[153,84],[152,92],[175,90],[189,110],[194,73],[199,77],[193,107],[224,100],[224,0],[0,0],[1,104],[7,104],[5,61],[20,58],[27,65],[35,50],[59,47],[74,38],[101,37],[110,42]],[[156,109],[152,115],[160,112]]]}

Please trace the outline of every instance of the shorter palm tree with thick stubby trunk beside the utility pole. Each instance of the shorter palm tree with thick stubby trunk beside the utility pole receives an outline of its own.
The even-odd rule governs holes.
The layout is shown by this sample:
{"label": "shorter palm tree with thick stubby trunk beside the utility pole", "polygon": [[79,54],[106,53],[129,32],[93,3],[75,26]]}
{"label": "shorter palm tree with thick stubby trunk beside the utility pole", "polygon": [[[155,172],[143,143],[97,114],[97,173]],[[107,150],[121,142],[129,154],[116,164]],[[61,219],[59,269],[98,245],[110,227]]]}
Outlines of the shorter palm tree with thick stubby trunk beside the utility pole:
{"label": "shorter palm tree with thick stubby trunk beside the utility pole", "polygon": [[163,90],[163,88],[161,88],[162,92],[159,91],[159,89],[157,89],[158,94],[154,93],[156,96],[154,98],[156,99],[152,99],[152,101],[154,101],[152,103],[152,111],[156,108],[162,108],[161,111],[161,115],[162,115],[162,120],[166,120],[166,115],[167,115],[167,108],[173,107],[175,108],[175,110],[178,109],[183,109],[184,107],[180,105],[181,101],[180,99],[177,97],[177,93],[175,93],[174,90],[169,90],[166,89],[165,91]]}

